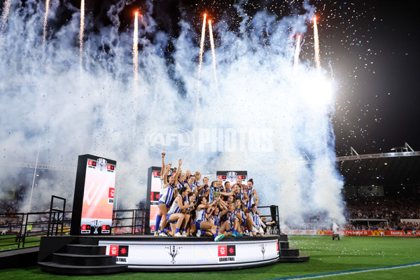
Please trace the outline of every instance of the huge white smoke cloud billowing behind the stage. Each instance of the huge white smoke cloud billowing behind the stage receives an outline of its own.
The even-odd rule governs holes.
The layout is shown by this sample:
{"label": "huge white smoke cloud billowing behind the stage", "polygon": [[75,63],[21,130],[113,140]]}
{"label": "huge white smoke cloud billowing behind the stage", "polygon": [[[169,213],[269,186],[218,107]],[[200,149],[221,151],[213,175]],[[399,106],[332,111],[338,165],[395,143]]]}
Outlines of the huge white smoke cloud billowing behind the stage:
{"label": "huge white smoke cloud billowing behind the stage", "polygon": [[[184,170],[204,174],[248,170],[260,205],[278,204],[283,223],[300,225],[307,213],[319,212],[343,223],[332,108],[328,102],[310,102],[316,94],[310,89],[321,86],[325,75],[316,76],[309,62],[301,62],[292,76],[294,34],[311,36],[307,20],[314,8],[305,2],[304,15],[276,20],[264,10],[250,17],[240,6],[243,20],[238,31],[214,22],[218,89],[207,51],[197,104],[198,35],[185,20],[179,21],[178,38],[169,38],[157,31],[152,3],[147,3],[139,20],[142,48],[139,83],[134,87],[132,34],[118,30],[123,2],[109,10],[112,26],[93,32],[92,19],[86,18],[81,73],[78,11],[65,25],[48,27],[42,53],[43,6],[34,0],[26,1],[25,7],[12,5],[0,50],[0,162],[3,166],[12,161],[34,163],[40,142],[38,162],[67,170],[36,179],[31,208],[43,210],[51,194],[72,200],[77,158],[85,153],[117,160],[118,205],[135,207],[146,199],[148,167],[160,165],[160,153],[148,148],[144,137],[156,127],[176,126],[192,131],[196,140],[200,131],[217,129],[214,139],[221,146],[217,151],[210,146],[200,151],[196,144],[183,153],[169,153],[167,162],[176,165],[183,158]],[[52,1],[49,19],[58,8],[59,2]],[[153,41],[147,34],[153,34]],[[174,43],[172,62],[162,50],[169,39]],[[223,142],[225,132],[235,130],[236,149],[229,149]],[[243,149],[241,135],[245,135]]]}

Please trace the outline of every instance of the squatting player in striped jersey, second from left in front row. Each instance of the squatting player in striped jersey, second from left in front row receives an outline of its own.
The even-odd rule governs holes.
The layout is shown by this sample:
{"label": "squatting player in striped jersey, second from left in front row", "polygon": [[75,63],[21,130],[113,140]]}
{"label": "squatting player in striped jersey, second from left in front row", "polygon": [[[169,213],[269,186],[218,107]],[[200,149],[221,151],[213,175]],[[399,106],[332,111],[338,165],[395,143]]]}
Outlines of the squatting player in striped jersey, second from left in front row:
{"label": "squatting player in striped jersey, second from left in front row", "polygon": [[190,208],[189,204],[184,204],[184,200],[188,195],[189,190],[186,187],[181,188],[179,195],[172,202],[171,209],[167,214],[167,221],[171,224],[172,232],[169,232],[169,235],[173,237],[182,237],[179,229],[181,228],[184,214],[181,213],[181,210]]}

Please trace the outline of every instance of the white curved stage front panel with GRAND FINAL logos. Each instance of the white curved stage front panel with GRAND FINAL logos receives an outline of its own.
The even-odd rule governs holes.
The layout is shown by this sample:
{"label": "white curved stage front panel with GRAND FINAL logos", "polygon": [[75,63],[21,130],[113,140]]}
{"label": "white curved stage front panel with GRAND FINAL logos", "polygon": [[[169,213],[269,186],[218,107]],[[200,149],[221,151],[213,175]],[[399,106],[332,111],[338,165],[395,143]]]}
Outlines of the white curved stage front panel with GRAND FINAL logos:
{"label": "white curved stage front panel with GRAND FINAL logos", "polygon": [[279,260],[279,240],[123,241],[99,240],[117,263],[141,269],[241,267]]}

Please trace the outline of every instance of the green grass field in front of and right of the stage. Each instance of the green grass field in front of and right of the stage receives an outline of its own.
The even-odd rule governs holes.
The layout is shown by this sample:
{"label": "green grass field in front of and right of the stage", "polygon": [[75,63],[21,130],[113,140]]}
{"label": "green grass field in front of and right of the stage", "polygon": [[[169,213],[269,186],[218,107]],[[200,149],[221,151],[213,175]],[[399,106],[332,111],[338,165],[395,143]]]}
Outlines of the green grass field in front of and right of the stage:
{"label": "green grass field in front of and right of the stage", "polygon": [[[102,276],[57,276],[36,267],[0,270],[1,279],[275,279],[280,277],[370,269],[420,262],[420,238],[417,237],[289,237],[290,246],[311,255],[309,262],[283,263],[224,272],[125,272]],[[328,276],[328,279],[419,279],[420,266],[400,267],[373,272]]]}

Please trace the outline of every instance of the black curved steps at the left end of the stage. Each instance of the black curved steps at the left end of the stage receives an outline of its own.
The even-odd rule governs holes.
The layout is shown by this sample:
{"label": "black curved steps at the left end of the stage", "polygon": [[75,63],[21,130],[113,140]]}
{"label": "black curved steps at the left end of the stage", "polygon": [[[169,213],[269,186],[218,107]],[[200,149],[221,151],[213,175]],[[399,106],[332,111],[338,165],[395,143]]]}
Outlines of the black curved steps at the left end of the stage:
{"label": "black curved steps at the left end of the stage", "polygon": [[45,260],[38,261],[43,272],[66,275],[97,275],[127,271],[117,265],[115,255],[106,255],[106,246],[92,244],[92,239],[78,239],[79,244],[66,244]]}

